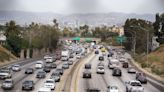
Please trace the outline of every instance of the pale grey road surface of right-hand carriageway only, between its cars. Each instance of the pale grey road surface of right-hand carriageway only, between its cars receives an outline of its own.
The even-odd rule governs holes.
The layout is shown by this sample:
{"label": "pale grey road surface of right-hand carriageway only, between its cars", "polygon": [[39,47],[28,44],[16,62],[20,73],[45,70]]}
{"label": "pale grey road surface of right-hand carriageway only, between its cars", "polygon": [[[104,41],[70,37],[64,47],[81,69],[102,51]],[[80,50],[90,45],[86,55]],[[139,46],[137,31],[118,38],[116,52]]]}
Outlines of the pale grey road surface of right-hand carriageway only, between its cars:
{"label": "pale grey road surface of right-hand carriageway only, between its cars", "polygon": [[[127,53],[126,53],[127,54]],[[125,54],[125,57],[127,56]],[[115,53],[115,55],[117,55]],[[121,77],[115,77],[112,76],[112,70],[108,68],[108,60],[107,57],[105,58],[105,61],[103,63],[105,64],[105,74],[97,74],[96,73],[96,67],[97,64],[100,62],[98,60],[99,55],[94,56],[91,60],[86,61],[90,62],[92,65],[92,78],[91,79],[84,79],[82,78],[82,72],[85,70],[83,67],[79,69],[79,75],[77,76],[76,79],[78,80],[77,84],[77,90],[71,91],[71,92],[86,92],[86,89],[88,88],[98,88],[101,90],[101,92],[106,92],[107,91],[107,86],[108,85],[115,85],[118,86],[120,89],[120,92],[126,92],[126,87],[125,87],[125,81],[129,80],[135,80],[135,74],[129,74],[127,73],[127,69],[124,69],[121,67],[121,64],[119,64],[121,70],[122,70],[122,76]],[[158,90],[155,88],[153,85],[151,85],[149,82],[147,84],[143,84],[144,87],[144,92],[162,92],[162,90]]]}

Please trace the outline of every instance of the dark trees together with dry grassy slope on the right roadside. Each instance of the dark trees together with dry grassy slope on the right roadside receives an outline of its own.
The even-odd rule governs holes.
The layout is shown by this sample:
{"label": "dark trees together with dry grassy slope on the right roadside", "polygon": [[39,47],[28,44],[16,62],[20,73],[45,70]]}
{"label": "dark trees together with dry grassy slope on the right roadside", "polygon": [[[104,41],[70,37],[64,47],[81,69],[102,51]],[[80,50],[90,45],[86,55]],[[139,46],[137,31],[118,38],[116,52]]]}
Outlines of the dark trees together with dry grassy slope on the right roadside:
{"label": "dark trees together with dry grassy slope on the right roadside", "polygon": [[[156,14],[155,17],[154,23],[141,19],[127,19],[124,28],[128,40],[124,46],[133,52],[136,35],[135,61],[145,70],[164,78],[164,13]],[[160,47],[154,51],[151,50],[152,37],[158,37],[156,41],[160,43]]]}

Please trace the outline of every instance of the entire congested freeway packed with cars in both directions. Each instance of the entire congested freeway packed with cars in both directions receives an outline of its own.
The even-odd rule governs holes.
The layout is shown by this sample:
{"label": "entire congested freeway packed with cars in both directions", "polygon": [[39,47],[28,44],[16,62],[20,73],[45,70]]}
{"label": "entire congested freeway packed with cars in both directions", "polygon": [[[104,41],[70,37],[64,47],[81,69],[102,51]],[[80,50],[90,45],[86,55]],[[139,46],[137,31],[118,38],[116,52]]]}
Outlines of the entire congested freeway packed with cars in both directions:
{"label": "entire congested freeway packed with cars in both directions", "polygon": [[[0,92],[162,92],[129,60],[122,48],[73,43],[39,60],[1,68]],[[78,67],[78,63],[82,64]],[[70,74],[69,90],[60,88],[63,82],[68,86],[63,77],[67,79],[77,67],[79,75]]]}

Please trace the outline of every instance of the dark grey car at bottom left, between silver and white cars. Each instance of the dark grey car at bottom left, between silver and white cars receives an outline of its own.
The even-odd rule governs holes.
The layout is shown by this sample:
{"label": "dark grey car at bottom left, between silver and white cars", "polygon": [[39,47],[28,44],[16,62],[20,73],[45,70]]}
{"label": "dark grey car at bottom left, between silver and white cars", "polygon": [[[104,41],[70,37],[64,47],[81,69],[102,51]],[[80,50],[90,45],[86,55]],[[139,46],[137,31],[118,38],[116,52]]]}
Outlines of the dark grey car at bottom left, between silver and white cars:
{"label": "dark grey car at bottom left, between silver and white cars", "polygon": [[34,81],[32,80],[25,80],[22,83],[22,90],[33,90],[34,89]]}

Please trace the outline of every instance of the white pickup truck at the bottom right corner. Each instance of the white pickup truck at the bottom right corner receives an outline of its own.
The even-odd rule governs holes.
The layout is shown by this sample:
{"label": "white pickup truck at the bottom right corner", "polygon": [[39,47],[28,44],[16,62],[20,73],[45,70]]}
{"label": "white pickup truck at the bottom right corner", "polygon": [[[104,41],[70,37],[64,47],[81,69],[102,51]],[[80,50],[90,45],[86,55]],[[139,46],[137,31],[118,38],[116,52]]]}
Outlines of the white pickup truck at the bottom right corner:
{"label": "white pickup truck at the bottom right corner", "polygon": [[126,92],[144,92],[144,88],[142,87],[140,81],[137,80],[126,81],[125,85],[126,85]]}

